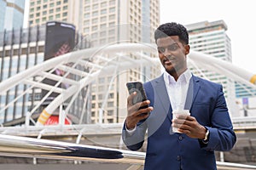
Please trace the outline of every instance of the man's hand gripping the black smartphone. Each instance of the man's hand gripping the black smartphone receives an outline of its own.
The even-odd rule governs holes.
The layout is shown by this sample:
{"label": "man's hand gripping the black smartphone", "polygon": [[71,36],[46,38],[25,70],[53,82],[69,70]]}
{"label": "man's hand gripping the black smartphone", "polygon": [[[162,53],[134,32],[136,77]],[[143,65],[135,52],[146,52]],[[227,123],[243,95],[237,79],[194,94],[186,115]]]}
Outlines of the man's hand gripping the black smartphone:
{"label": "man's hand gripping the black smartphone", "polygon": [[137,95],[136,92],[130,94],[127,98],[127,117],[126,117],[126,128],[133,129],[137,123],[148,117],[150,111],[153,111],[153,107],[149,106],[145,109],[139,109],[144,105],[149,105],[150,101],[146,100],[137,104],[132,104],[133,98]]}

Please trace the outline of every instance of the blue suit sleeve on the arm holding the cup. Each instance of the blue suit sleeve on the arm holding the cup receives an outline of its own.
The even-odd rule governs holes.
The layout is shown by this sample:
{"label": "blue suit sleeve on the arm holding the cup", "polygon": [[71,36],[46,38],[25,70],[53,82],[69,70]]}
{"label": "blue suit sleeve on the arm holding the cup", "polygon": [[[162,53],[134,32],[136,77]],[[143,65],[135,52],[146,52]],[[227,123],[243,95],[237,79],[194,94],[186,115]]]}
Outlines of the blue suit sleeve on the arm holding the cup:
{"label": "blue suit sleeve on the arm holding the cup", "polygon": [[212,111],[209,142],[203,148],[206,150],[231,150],[236,143],[236,133],[233,130],[229,111],[224,99],[223,88],[218,87],[216,103]]}

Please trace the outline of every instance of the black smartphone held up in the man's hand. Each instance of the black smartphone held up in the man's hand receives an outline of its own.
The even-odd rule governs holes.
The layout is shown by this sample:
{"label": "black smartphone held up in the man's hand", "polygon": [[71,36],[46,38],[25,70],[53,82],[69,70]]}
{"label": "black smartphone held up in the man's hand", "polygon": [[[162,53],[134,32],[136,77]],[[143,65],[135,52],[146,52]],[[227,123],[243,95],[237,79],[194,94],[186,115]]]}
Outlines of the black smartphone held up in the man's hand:
{"label": "black smartphone held up in the man's hand", "polygon": [[[129,94],[132,94],[133,92],[137,92],[137,95],[132,100],[133,105],[147,100],[147,95],[143,88],[142,82],[127,82],[126,87],[128,88]],[[144,105],[139,109],[144,109],[144,108],[148,108],[148,105]],[[148,113],[143,113],[143,114],[148,114]]]}

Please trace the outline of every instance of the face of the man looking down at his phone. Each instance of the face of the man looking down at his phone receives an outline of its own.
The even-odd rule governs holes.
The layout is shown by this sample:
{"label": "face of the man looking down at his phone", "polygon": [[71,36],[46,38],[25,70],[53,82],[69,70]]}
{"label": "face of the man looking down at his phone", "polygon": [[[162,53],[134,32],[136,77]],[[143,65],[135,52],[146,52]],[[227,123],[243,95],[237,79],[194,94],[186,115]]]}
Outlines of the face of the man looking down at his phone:
{"label": "face of the man looking down at his phone", "polygon": [[179,76],[187,69],[189,45],[180,42],[177,36],[158,38],[156,45],[160,62],[169,74]]}

